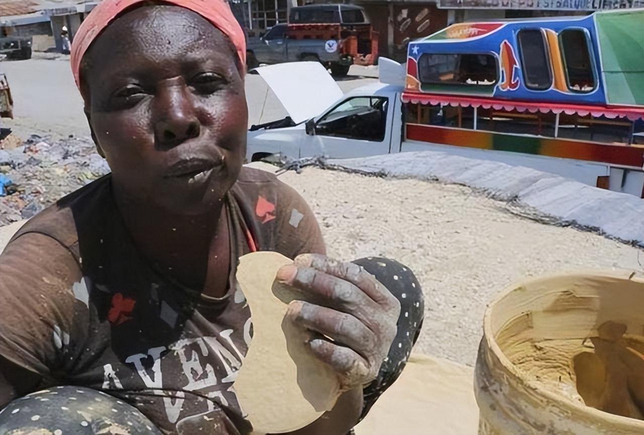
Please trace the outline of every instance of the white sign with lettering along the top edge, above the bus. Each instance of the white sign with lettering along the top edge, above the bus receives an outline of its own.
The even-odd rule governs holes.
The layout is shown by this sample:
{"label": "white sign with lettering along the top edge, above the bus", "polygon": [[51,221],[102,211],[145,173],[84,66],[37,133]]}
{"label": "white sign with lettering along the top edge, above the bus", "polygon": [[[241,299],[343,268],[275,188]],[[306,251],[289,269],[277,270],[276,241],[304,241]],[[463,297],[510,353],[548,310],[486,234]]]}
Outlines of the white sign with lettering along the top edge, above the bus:
{"label": "white sign with lettering along the top edge, above the bus", "polygon": [[644,0],[439,0],[446,9],[605,10],[644,8]]}

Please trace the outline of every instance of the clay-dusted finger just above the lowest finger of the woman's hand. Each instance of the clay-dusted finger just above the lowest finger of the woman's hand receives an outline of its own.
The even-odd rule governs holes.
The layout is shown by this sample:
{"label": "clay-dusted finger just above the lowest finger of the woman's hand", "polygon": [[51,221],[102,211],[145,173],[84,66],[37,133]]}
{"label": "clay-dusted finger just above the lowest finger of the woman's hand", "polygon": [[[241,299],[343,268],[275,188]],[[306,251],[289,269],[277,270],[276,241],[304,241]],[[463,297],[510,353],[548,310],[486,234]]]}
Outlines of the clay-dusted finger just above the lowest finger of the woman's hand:
{"label": "clay-dusted finger just above the lowest finger of the woman's hand", "polygon": [[329,337],[337,344],[348,346],[365,359],[370,359],[377,347],[375,333],[353,315],[304,301],[292,301],[287,317],[308,330]]}

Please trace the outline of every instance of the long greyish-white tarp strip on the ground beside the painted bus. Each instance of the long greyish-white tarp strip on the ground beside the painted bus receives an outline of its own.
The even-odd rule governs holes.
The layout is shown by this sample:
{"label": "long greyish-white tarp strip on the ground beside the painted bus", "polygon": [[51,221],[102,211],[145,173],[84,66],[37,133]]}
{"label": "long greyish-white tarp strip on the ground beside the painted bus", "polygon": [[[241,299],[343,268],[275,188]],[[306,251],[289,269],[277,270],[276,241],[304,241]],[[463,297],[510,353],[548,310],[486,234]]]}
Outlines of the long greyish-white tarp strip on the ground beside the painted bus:
{"label": "long greyish-white tarp strip on the ground beside the painted bus", "polygon": [[464,184],[512,202],[522,214],[575,225],[644,247],[644,200],[523,166],[468,159],[444,152],[403,152],[328,160],[346,170]]}

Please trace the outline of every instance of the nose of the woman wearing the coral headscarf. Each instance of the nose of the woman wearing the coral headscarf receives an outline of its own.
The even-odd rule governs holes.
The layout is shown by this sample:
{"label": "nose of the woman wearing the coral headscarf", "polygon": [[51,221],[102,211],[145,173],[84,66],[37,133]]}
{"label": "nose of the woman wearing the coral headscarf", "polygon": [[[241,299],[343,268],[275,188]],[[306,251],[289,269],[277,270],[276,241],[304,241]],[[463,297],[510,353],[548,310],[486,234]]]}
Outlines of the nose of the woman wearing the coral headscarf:
{"label": "nose of the woman wearing the coral headscarf", "polygon": [[191,93],[185,84],[159,86],[155,96],[155,143],[173,148],[188,139],[198,138],[201,130]]}

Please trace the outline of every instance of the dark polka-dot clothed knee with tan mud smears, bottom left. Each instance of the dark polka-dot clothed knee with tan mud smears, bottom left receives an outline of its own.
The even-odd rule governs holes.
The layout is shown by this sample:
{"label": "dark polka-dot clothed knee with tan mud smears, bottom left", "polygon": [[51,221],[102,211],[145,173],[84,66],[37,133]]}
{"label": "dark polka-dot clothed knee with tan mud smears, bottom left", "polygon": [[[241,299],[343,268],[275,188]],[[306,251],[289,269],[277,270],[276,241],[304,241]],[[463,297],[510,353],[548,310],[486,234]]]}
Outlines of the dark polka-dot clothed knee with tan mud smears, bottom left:
{"label": "dark polka-dot clothed knee with tan mud smears, bottom left", "polygon": [[0,411],[0,435],[161,435],[135,407],[106,393],[52,387]]}

